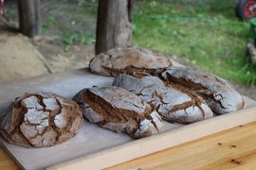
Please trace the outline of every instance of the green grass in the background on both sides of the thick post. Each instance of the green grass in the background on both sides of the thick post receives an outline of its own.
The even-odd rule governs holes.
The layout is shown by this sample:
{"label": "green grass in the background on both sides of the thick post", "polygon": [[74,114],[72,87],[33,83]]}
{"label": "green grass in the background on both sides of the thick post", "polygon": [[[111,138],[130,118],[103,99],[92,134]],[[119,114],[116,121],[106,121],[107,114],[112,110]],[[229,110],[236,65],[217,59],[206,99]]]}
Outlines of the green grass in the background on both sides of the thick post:
{"label": "green grass in the background on both sides of the thick post", "polygon": [[[65,50],[74,43],[93,44],[97,0],[61,2],[57,12],[47,14],[43,34],[57,36]],[[249,24],[237,19],[235,5],[236,0],[137,0],[134,44],[175,55],[232,82],[255,85],[256,66],[246,57]],[[8,18],[17,15],[13,7],[5,10]]]}

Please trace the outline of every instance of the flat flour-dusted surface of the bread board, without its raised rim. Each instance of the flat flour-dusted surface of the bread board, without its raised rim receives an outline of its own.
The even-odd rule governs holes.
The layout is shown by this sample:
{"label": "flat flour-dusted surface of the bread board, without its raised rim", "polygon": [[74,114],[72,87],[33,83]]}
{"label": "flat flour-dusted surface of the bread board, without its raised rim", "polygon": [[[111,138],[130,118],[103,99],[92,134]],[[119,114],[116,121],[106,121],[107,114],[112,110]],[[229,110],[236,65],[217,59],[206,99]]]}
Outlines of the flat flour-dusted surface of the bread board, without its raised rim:
{"label": "flat flour-dusted surface of the bread board, without its raised rim", "polygon": [[[71,98],[83,88],[90,88],[94,85],[109,86],[112,82],[113,77],[93,75],[88,72],[88,69],[2,82],[0,83],[0,112],[5,110],[9,102],[13,101],[14,98],[24,93],[52,92]],[[182,126],[165,124],[167,125],[161,130],[170,130],[171,128]],[[0,143],[25,169],[43,169],[47,166],[89,155],[118,144],[129,143],[132,140],[126,134],[116,133],[88,122],[84,122],[79,134],[72,140],[46,148],[25,148],[9,144],[0,136]]]}

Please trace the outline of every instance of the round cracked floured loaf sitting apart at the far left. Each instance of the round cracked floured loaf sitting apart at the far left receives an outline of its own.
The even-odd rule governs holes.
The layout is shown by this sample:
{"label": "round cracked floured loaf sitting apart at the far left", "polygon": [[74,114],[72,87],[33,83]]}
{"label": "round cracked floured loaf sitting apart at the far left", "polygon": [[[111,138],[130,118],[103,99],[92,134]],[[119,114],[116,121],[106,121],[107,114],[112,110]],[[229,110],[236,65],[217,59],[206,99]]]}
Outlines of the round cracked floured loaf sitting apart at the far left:
{"label": "round cracked floured loaf sitting apart at the far left", "polygon": [[79,105],[54,93],[26,93],[0,117],[1,132],[11,144],[45,147],[74,137],[82,127]]}

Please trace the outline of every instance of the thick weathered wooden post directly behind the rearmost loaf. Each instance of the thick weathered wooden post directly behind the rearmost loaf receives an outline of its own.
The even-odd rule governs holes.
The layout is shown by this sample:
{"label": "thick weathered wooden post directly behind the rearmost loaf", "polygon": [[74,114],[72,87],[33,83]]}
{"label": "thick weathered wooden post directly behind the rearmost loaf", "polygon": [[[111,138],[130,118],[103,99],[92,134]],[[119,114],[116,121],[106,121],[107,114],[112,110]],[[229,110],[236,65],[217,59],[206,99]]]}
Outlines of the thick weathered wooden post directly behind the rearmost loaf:
{"label": "thick weathered wooden post directly behind the rearmost loaf", "polygon": [[133,0],[99,0],[95,53],[132,44]]}

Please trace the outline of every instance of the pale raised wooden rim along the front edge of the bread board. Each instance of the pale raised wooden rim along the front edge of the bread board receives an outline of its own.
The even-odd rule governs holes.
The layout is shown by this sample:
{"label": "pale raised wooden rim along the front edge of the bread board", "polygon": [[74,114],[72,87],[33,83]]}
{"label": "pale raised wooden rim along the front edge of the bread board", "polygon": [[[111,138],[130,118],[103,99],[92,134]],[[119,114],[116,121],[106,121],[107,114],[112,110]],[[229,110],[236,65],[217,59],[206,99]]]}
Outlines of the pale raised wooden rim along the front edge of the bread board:
{"label": "pale raised wooden rim along the front edge of the bread board", "polygon": [[165,133],[121,144],[77,160],[66,161],[48,169],[82,169],[82,167],[102,169],[253,121],[256,121],[256,107],[178,127]]}

